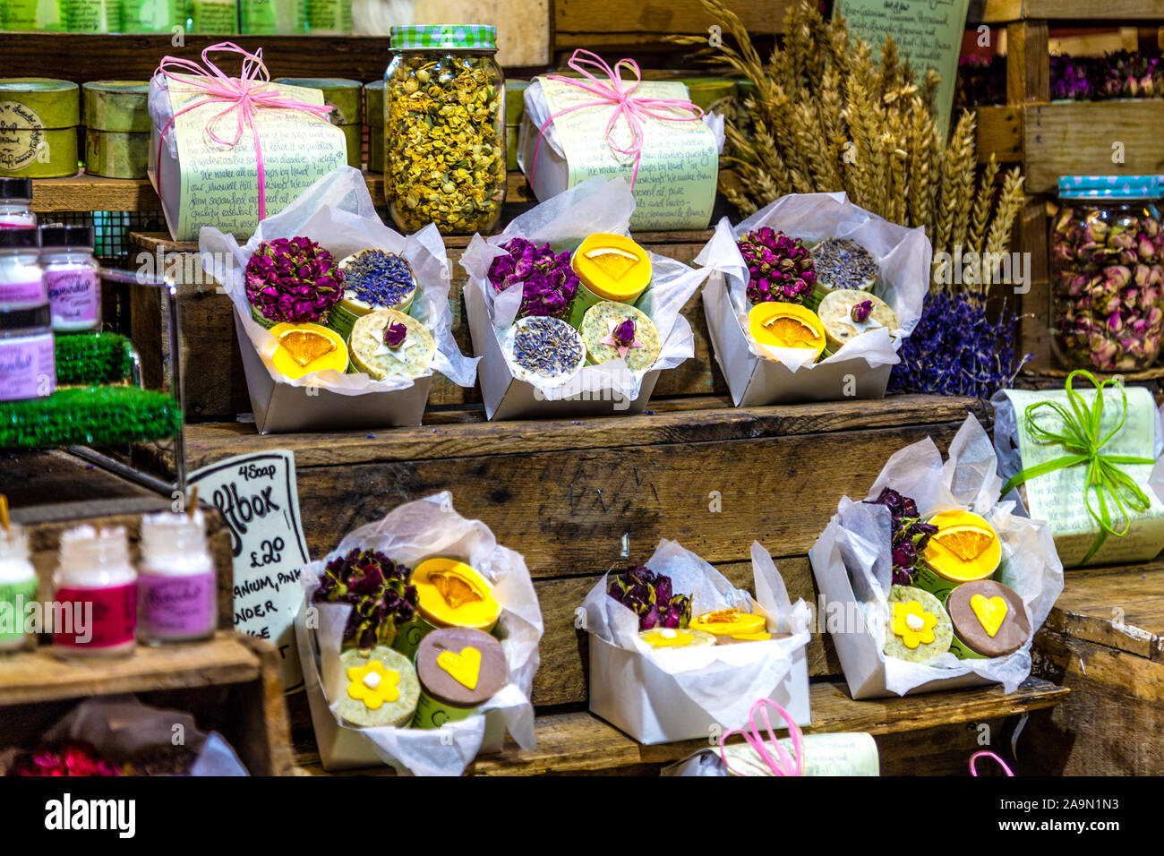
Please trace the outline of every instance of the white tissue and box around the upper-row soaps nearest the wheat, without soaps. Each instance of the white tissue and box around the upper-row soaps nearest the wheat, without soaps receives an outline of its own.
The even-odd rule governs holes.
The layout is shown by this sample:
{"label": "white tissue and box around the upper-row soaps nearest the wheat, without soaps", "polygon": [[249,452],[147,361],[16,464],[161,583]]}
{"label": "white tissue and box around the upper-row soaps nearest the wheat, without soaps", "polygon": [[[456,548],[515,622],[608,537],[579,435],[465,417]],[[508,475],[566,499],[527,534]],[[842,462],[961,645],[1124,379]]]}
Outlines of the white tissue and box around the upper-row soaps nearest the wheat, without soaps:
{"label": "white tissue and box around the upper-row soaps nearest the wheat, without soaps", "polygon": [[[764,226],[810,247],[826,238],[849,238],[865,247],[881,269],[874,290],[897,314],[900,327],[867,330],[816,363],[803,348],[768,348],[752,341],[747,334],[748,273],[736,241]],[[931,255],[923,228],[883,220],[850,203],[844,193],[785,196],[734,227],[722,219],[695,263],[710,274],[703,286],[703,311],[736,405],[883,396],[889,373],[900,362],[897,348],[921,318]]]}

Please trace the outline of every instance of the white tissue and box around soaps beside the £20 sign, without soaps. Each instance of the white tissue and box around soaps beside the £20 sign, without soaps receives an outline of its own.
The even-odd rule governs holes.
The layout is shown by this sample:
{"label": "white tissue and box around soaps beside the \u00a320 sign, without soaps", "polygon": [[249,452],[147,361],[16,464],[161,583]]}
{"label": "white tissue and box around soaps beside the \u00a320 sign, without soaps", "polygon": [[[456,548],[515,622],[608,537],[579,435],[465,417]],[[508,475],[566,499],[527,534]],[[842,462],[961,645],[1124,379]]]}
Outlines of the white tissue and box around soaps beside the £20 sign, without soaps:
{"label": "white tissue and box around soaps beside the \u00a320 sign, without soaps", "polygon": [[[339,667],[343,628],[352,609],[346,603],[312,604],[319,575],[327,563],[353,549],[372,549],[393,561],[416,567],[434,557],[460,559],[494,583],[503,607],[498,637],[509,663],[509,684],[481,707],[480,714],[448,722],[439,729],[356,728],[341,721],[336,703],[345,678]],[[319,561],[303,568],[304,606],[296,618],[296,639],[312,724],[324,766],[340,770],[389,764],[399,773],[460,776],[478,754],[501,750],[505,731],[523,749],[533,749],[533,706],[530,686],[540,662],[541,610],[530,572],[520,553],[501,546],[481,521],[469,521],[453,509],[443,491],[407,502],[382,521],[360,526]],[[318,629],[308,629],[307,608],[319,610]]]}

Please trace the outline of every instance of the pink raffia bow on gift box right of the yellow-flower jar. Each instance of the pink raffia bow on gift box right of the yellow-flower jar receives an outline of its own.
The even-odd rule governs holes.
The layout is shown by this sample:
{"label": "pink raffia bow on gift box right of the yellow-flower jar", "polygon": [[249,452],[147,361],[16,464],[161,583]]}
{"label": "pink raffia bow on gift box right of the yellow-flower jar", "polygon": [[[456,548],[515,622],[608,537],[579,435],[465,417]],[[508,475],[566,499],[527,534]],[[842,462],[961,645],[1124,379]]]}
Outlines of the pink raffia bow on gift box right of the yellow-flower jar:
{"label": "pink raffia bow on gift box right of the yellow-flower jar", "polygon": [[[541,139],[546,133],[546,128],[558,116],[566,115],[567,113],[589,109],[591,107],[612,106],[615,108],[611,111],[610,121],[606,122],[606,144],[611,151],[634,158],[634,168],[631,170],[631,190],[634,190],[634,179],[638,178],[639,163],[643,161],[643,142],[645,139],[643,121],[645,119],[661,119],[667,122],[697,122],[703,119],[703,108],[697,107],[689,100],[682,98],[644,98],[636,95],[636,90],[643,83],[643,72],[639,71],[639,65],[633,59],[619,59],[612,69],[597,54],[584,48],[579,48],[574,51],[574,56],[570,57],[567,65],[582,75],[583,79],[579,80],[577,78],[563,77],[562,75],[546,75],[546,79],[558,80],[570,86],[576,86],[580,90],[585,90],[595,95],[596,100],[575,104],[573,107],[560,109],[541,123],[541,127],[538,128],[538,143],[533,148],[533,163],[530,164],[531,178],[538,169],[538,151],[541,150]],[[608,79],[599,80],[587,70],[587,66],[603,72]],[[634,76],[633,80],[623,80],[622,71],[624,68]],[[682,111],[687,111],[691,115],[675,115],[676,112]],[[631,142],[626,147],[619,146],[615,137],[615,129],[618,126],[619,118],[626,121],[631,130]]]}

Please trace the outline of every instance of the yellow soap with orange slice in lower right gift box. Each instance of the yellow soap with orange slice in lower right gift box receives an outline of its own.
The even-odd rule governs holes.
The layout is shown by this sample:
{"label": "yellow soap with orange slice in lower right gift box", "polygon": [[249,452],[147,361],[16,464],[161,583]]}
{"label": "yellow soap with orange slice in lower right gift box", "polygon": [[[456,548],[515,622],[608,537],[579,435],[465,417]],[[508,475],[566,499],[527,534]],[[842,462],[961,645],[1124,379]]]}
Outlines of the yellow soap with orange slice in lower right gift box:
{"label": "yellow soap with orange slice in lower right gift box", "polygon": [[914,576],[917,588],[943,601],[964,582],[988,580],[1002,561],[1002,542],[994,528],[972,511],[941,511],[927,523],[938,528],[922,550]]}

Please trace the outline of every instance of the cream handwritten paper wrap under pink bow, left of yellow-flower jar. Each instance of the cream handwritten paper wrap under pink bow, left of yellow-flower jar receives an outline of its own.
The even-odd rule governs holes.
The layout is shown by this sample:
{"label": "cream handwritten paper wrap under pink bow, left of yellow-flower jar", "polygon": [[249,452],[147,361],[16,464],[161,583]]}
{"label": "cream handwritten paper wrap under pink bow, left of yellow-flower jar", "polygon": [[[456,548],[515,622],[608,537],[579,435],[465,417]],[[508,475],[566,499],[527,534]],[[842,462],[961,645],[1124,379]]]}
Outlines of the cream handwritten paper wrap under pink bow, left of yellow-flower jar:
{"label": "cream handwritten paper wrap under pink bow, left of yellow-flower jar", "polygon": [[[269,84],[281,94],[313,105],[324,104],[319,90]],[[178,238],[197,238],[203,226],[249,236],[257,225],[258,163],[255,135],[243,128],[233,147],[214,142],[207,132],[233,140],[237,119],[230,113],[213,125],[222,112],[220,102],[205,104],[206,95],[180,78],[170,82],[173,130],[182,165],[182,204],[178,210]],[[191,104],[187,113],[180,111]],[[348,162],[343,132],[327,119],[293,109],[258,108],[255,126],[263,154],[267,215],[277,214],[319,178]]]}

